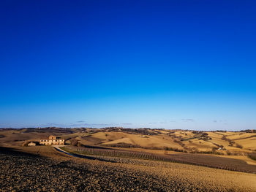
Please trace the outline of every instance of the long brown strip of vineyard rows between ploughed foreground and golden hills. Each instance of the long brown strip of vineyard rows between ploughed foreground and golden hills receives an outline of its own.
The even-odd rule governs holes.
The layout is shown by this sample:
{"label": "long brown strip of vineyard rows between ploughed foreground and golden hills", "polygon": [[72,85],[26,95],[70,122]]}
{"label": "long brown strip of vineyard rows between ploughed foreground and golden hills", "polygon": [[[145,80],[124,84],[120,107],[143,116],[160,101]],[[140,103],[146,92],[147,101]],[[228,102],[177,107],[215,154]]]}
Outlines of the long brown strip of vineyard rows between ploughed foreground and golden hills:
{"label": "long brown strip of vineyard rows between ploughed foreground and golden hills", "polygon": [[181,164],[193,164],[199,166],[208,166],[218,169],[226,169],[237,172],[249,172],[256,174],[256,165],[246,164],[246,162],[234,158],[222,158],[214,155],[202,154],[186,154],[178,153],[171,155],[159,155],[156,153],[146,153],[138,151],[127,150],[113,150],[102,148],[86,148],[86,147],[63,147],[71,153],[78,153],[84,155],[99,155],[107,157],[121,157],[121,158],[140,158],[153,161],[167,161]]}

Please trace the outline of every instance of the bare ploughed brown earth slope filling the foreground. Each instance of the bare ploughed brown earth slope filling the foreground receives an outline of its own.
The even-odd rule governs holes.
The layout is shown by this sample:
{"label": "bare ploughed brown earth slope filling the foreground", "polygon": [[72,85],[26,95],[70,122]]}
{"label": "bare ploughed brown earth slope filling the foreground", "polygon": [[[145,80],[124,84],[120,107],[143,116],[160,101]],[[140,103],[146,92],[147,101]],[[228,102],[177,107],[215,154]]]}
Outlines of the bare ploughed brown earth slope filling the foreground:
{"label": "bare ploughed brown earth slope filling the foreground", "polygon": [[0,166],[0,191],[256,191],[256,174],[135,158],[99,161],[45,146],[1,147]]}

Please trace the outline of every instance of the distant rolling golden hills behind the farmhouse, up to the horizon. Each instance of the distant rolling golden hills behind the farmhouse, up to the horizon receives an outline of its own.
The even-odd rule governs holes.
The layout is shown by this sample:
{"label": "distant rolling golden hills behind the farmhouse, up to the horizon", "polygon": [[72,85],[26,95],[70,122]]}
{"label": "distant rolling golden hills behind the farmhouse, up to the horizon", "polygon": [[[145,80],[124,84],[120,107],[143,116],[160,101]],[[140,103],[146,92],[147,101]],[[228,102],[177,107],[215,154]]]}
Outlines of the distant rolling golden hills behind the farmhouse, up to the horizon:
{"label": "distant rolling golden hills behind the farmhouse, up to the horizon", "polygon": [[1,129],[1,145],[22,145],[54,134],[82,145],[174,150],[184,153],[246,155],[256,150],[256,133],[230,131],[182,131],[132,128],[22,128]]}

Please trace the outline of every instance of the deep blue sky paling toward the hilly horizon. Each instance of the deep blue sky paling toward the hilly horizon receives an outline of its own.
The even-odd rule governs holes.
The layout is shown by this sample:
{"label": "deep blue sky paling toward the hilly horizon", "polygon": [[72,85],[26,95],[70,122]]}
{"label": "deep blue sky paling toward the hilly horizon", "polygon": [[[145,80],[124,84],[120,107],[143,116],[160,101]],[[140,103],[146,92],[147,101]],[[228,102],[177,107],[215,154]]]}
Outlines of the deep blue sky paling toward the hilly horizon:
{"label": "deep blue sky paling toward the hilly horizon", "polygon": [[0,127],[256,128],[255,1],[0,4]]}

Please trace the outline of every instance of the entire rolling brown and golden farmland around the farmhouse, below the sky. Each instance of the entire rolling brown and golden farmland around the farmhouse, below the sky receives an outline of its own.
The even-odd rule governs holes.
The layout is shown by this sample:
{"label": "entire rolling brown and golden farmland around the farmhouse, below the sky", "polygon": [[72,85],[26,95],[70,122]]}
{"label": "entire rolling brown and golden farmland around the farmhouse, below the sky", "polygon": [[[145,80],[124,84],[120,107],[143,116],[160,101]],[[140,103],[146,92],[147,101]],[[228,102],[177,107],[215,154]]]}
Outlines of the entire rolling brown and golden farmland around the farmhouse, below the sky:
{"label": "entire rolling brown and golden farmland around the farmhouse, below the sky", "polygon": [[[50,134],[66,139],[63,149],[75,156],[50,146],[21,147],[24,141],[36,142]],[[1,129],[0,191],[256,191],[256,161],[249,156],[255,153],[255,135]]]}

